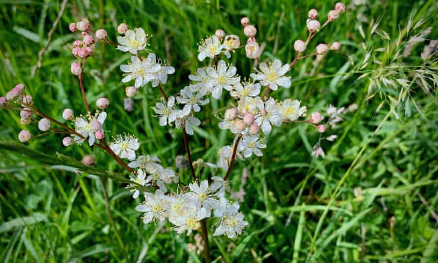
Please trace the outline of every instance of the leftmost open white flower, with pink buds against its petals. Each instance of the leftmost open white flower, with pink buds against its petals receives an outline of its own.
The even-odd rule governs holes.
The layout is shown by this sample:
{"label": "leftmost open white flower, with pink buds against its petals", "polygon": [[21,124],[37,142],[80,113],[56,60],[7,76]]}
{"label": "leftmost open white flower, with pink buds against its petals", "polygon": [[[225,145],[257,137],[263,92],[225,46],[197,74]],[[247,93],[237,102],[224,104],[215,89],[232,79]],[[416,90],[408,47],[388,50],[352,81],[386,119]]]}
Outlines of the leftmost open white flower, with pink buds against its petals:
{"label": "leftmost open white flower, with pink buds against its petals", "polygon": [[[81,145],[84,140],[88,137],[88,144],[92,146],[95,141],[94,132],[97,132],[100,129],[96,129],[103,125],[103,122],[106,119],[106,112],[102,111],[101,113],[96,113],[91,118],[86,118],[84,116],[77,117],[74,122],[74,130],[81,134],[85,138],[81,138],[78,135],[74,135],[74,141]],[[93,125],[92,125],[93,124]]]}

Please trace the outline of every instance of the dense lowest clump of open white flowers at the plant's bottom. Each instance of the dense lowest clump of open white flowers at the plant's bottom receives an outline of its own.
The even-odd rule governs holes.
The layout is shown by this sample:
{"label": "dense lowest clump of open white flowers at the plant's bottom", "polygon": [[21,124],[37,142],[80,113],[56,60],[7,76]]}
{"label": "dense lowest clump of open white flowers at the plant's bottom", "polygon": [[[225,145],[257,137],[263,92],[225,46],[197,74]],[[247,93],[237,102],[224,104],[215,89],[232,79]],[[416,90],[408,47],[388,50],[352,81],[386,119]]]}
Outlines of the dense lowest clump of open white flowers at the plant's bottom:
{"label": "dense lowest clump of open white flowers at the plant's bottom", "polygon": [[202,220],[214,217],[218,220],[218,227],[213,235],[233,238],[242,233],[248,222],[243,220],[243,214],[238,211],[239,204],[224,197],[220,190],[223,188],[222,178],[212,179],[210,185],[207,180],[200,184],[189,184],[190,191],[187,193],[166,195],[162,190],[156,190],[155,194],[145,193],[145,201],[135,209],[143,212],[143,223],[168,219],[177,233],[187,231],[187,235],[199,230]]}

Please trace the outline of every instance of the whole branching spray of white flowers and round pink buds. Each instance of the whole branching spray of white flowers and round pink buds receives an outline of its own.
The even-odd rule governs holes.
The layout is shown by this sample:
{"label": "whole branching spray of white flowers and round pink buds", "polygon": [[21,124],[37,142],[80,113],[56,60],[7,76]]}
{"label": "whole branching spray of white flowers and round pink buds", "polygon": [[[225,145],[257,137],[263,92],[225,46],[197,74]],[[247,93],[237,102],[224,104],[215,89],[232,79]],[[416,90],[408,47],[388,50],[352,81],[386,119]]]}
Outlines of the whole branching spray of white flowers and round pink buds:
{"label": "whole branching spray of white flowers and round pink buds", "polygon": [[[245,46],[241,46],[237,34],[226,35],[223,30],[218,29],[214,35],[201,41],[198,47],[198,60],[202,62],[209,58],[211,62],[195,69],[188,76],[188,86],[180,87],[179,92],[169,97],[161,84],[166,84],[168,75],[173,74],[175,68],[167,66],[147,49],[150,36],[143,29],[130,30],[125,23],[120,24],[117,28],[120,35],[117,37],[118,44],[116,44],[108,38],[108,33],[104,29],[94,33],[90,22],[83,19],[69,25],[71,32],[80,31],[82,37],[81,40],[73,42],[72,53],[78,62],[71,64],[70,69],[79,80],[87,113],[75,117],[73,110],[67,108],[63,110],[62,116],[65,121],[73,121],[72,124],[59,122],[32,106],[33,99],[26,95],[23,84],[18,84],[7,92],[5,97],[0,97],[0,107],[20,110],[23,125],[37,122],[40,131],[67,134],[62,140],[64,146],[73,145],[74,142],[81,145],[87,141],[90,146],[94,145],[104,150],[129,172],[130,183],[127,188],[132,192],[132,197],[144,197],[144,201],[136,206],[136,210],[143,213],[143,223],[167,219],[173,224],[174,230],[187,234],[204,226],[203,236],[206,237],[208,233],[205,230],[205,220],[214,218],[216,223],[213,235],[234,238],[248,225],[244,215],[239,212],[239,204],[227,198],[231,195],[242,201],[245,194],[242,188],[239,192],[232,192],[228,187],[227,179],[236,159],[250,158],[253,155],[262,156],[263,149],[268,147],[266,141],[269,134],[273,132],[273,127],[292,125],[291,123],[310,125],[318,132],[319,139],[313,146],[312,152],[315,157],[325,156],[321,147],[322,141],[333,141],[337,138],[335,134],[323,135],[326,134],[327,129],[336,128],[343,121],[342,114],[350,107],[345,110],[344,107],[338,109],[329,106],[326,110],[327,116],[314,111],[308,118],[307,106],[303,106],[301,101],[291,98],[276,99],[270,96],[272,95],[270,92],[291,87],[291,77],[288,76],[288,72],[297,61],[310,56],[322,58],[328,52],[329,46],[320,43],[316,46],[315,53],[302,56],[313,36],[328,23],[338,19],[344,10],[344,4],[337,3],[335,9],[328,13],[328,20],[322,26],[317,20],[317,11],[310,10],[306,25],[309,31],[308,39],[295,41],[296,57],[292,62],[285,64],[280,59],[260,61],[262,50],[255,39],[257,30],[255,26],[249,24],[249,18],[241,19],[243,33],[248,37]],[[124,99],[126,110],[133,109],[134,100],[131,98],[137,94],[140,87],[151,83],[152,87],[158,88],[162,99],[156,102],[152,109],[160,126],[174,126],[183,131],[188,156],[187,166],[192,176],[192,181],[187,185],[180,180],[180,176],[172,167],[164,167],[156,156],[139,153],[140,141],[136,136],[115,134],[112,141],[106,142],[103,125],[107,118],[105,109],[110,101],[106,98],[98,99],[95,104],[98,109],[92,114],[82,81],[85,62],[94,54],[96,39],[132,55],[125,65],[120,66],[124,75],[122,82],[133,81],[133,86],[125,87],[128,97]],[[246,57],[254,62],[254,71],[249,76],[241,78],[237,74],[237,68],[227,63],[221,56],[230,58],[243,47]],[[339,49],[339,42],[330,45],[330,50]],[[262,88],[263,94],[261,94]],[[187,136],[187,134],[193,135],[196,127],[201,125],[196,115],[208,105],[210,95],[213,99],[230,97],[234,100],[234,103],[219,117],[219,128],[229,130],[234,139],[232,144],[219,149],[215,164],[206,163],[201,159],[193,162]],[[53,125],[60,126],[62,130],[54,129]],[[23,130],[18,137],[20,141],[25,142],[31,139],[32,135],[31,132]],[[94,165],[94,158],[85,156],[82,162],[86,165]],[[184,165],[180,166],[180,169],[183,169]],[[200,175],[196,175],[196,167],[216,168],[217,172],[211,179],[201,180]],[[226,170],[224,177],[218,176],[218,168]],[[242,180],[244,181],[244,178]],[[204,240],[204,245],[208,245],[206,241]],[[197,240],[196,244],[199,251],[203,250],[200,240]]]}

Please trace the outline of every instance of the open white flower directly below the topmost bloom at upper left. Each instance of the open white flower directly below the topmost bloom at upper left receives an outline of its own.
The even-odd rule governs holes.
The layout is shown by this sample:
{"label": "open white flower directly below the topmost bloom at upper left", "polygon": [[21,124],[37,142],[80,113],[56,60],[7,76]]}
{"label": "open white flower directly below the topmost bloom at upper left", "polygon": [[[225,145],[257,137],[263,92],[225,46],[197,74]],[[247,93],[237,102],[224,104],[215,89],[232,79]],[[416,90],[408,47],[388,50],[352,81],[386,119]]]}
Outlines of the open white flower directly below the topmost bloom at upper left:
{"label": "open white flower directly below the topmost bloom at upper left", "polygon": [[146,59],[139,59],[137,56],[132,56],[131,62],[128,62],[128,65],[121,65],[120,69],[126,73],[122,82],[125,83],[135,79],[134,86],[139,88],[150,81],[155,81],[158,72],[161,70],[161,66],[156,63],[155,59],[149,59],[149,57],[155,58],[155,55],[151,53]]}

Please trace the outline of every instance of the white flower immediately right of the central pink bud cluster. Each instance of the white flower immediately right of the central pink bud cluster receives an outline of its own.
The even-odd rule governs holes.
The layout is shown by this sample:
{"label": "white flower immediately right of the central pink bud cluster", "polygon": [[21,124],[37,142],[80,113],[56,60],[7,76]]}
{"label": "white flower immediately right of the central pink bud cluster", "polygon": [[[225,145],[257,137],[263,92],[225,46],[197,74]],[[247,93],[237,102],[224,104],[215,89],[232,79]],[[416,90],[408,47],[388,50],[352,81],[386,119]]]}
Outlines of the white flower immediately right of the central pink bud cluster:
{"label": "white flower immediately right of the central pink bud cluster", "polygon": [[258,99],[257,107],[260,110],[260,114],[256,115],[255,123],[260,126],[263,133],[271,133],[271,125],[282,125],[282,118],[277,110],[275,99],[270,98],[265,103],[263,103],[261,99]]}

